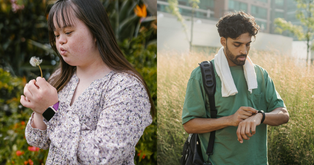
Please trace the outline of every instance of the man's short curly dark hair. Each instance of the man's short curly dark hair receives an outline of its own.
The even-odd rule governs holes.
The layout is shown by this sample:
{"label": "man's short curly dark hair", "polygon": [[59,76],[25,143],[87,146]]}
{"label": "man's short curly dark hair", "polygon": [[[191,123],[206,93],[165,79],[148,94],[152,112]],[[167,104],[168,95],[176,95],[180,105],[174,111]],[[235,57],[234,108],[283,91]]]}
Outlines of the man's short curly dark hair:
{"label": "man's short curly dark hair", "polygon": [[220,37],[230,37],[234,40],[244,33],[249,33],[250,36],[256,38],[256,34],[260,28],[256,24],[254,17],[243,11],[228,13],[218,20],[216,26]]}

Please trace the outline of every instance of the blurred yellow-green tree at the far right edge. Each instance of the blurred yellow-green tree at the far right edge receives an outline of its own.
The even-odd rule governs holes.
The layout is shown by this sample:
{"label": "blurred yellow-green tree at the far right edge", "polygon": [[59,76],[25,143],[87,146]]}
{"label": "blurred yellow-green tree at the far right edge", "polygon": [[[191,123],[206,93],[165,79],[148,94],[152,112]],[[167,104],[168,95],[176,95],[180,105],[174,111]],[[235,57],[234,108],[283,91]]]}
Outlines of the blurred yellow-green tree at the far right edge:
{"label": "blurred yellow-green tree at the far right edge", "polygon": [[275,32],[282,34],[283,31],[287,30],[298,37],[299,40],[306,40],[307,44],[307,65],[310,66],[312,63],[311,55],[309,51],[314,48],[314,43],[310,45],[310,40],[314,36],[314,0],[295,0],[297,3],[298,10],[295,12],[295,16],[300,20],[301,25],[292,25],[289,21],[287,22],[283,18],[276,18],[274,24],[277,26]]}

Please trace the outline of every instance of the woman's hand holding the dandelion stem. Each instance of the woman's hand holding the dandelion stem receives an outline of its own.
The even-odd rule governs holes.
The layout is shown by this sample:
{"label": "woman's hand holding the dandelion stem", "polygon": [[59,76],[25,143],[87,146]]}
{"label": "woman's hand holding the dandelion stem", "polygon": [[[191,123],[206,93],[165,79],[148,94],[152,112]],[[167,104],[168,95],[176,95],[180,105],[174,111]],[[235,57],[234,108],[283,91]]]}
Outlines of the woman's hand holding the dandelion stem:
{"label": "woman's hand holding the dandelion stem", "polygon": [[[37,81],[36,81],[37,80]],[[35,113],[42,114],[46,108],[59,101],[57,89],[51,86],[45,78],[37,77],[30,80],[24,87],[21,104],[32,109]]]}

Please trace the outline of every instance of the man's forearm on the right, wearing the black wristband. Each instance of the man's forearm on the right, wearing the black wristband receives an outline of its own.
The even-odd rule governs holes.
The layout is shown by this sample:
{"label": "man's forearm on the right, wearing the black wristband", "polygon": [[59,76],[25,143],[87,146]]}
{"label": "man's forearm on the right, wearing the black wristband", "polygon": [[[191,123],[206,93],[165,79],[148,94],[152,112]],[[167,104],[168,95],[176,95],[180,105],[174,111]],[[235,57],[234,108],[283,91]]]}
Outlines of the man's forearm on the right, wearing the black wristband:
{"label": "man's forearm on the right, wearing the black wristband", "polygon": [[288,123],[288,121],[289,121],[289,113],[287,109],[284,107],[278,107],[278,108],[275,108],[272,112],[265,113],[265,120],[263,124],[267,124],[271,126],[279,126],[281,124]]}

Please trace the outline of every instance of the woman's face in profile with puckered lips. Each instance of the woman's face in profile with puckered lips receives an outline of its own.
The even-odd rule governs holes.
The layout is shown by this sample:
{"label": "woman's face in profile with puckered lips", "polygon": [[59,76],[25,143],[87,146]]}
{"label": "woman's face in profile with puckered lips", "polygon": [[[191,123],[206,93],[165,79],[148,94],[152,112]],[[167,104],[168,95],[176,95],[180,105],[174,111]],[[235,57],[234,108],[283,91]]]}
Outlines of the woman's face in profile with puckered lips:
{"label": "woman's face in profile with puckered lips", "polygon": [[[86,67],[99,60],[99,51],[96,39],[89,31],[88,27],[80,19],[72,15],[70,21],[72,25],[64,27],[60,21],[60,27],[57,26],[57,20],[53,19],[56,27],[54,34],[56,36],[56,47],[63,60],[72,66]],[[62,17],[59,16],[62,20]]]}

